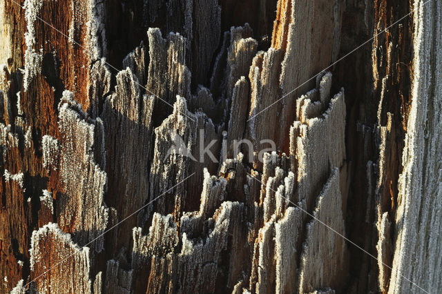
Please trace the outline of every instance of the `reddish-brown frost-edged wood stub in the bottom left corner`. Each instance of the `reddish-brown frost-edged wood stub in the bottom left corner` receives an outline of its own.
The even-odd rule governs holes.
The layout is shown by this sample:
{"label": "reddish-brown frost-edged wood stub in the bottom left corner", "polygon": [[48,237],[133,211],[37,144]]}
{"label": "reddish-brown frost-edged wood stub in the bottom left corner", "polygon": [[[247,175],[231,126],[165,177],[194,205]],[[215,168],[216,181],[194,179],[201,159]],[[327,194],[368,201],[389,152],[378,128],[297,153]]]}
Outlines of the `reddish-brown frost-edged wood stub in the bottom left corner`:
{"label": "reddish-brown frost-edged wood stub in the bottom left corner", "polygon": [[[56,270],[48,271],[53,266]],[[57,293],[91,293],[89,248],[80,248],[57,224],[47,224],[32,233],[30,270],[31,279],[42,275],[30,285],[38,293],[51,289]]]}

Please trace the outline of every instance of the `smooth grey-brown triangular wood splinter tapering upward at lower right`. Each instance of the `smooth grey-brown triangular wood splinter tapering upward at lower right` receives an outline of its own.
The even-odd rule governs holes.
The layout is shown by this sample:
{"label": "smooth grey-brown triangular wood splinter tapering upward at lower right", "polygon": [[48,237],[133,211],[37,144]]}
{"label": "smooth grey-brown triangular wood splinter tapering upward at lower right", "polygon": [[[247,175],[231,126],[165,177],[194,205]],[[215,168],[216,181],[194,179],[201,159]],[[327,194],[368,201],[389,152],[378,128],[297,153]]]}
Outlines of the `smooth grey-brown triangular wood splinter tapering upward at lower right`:
{"label": "smooth grey-brown triangular wood splinter tapering upward at lower right", "polygon": [[339,169],[333,168],[316,200],[314,219],[307,224],[300,259],[300,293],[327,286],[340,288],[346,279],[346,246],[341,237],[345,235],[345,227],[339,183]]}

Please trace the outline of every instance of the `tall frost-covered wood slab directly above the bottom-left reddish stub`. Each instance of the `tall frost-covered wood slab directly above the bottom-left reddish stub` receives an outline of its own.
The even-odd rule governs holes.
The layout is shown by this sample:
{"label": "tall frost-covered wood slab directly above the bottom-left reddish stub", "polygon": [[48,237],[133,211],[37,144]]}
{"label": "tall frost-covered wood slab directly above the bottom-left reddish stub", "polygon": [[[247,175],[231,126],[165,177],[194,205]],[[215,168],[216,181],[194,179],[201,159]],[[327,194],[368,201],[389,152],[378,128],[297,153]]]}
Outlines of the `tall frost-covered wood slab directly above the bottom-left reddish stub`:
{"label": "tall frost-covered wood slab directly above the bottom-left reddish stub", "polygon": [[[59,226],[73,233],[77,243],[86,244],[104,231],[108,221],[108,208],[104,204],[106,173],[94,158],[94,149],[102,149],[95,141],[95,132],[100,128],[97,121],[88,120],[68,91],[59,105],[59,128],[60,175],[66,191],[57,201]],[[99,158],[99,162],[104,162],[104,158]],[[103,237],[94,246],[96,251],[102,251]]]}

